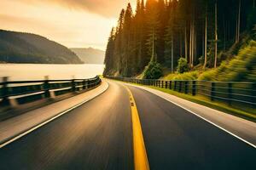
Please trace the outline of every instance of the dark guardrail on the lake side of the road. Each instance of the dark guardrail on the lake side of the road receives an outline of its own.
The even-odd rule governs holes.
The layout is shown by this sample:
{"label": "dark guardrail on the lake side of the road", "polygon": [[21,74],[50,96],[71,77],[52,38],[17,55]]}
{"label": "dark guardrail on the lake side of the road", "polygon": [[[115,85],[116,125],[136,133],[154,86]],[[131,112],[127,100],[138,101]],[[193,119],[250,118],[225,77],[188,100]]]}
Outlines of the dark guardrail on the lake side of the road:
{"label": "dark guardrail on the lake side of the road", "polygon": [[37,95],[43,95],[43,98],[50,98],[52,95],[95,88],[101,82],[102,80],[98,76],[89,79],[72,80],[48,80],[46,77],[45,80],[40,81],[8,81],[8,77],[3,77],[3,82],[0,82],[0,103],[9,105],[10,99],[26,100],[26,98],[32,98],[32,96]]}

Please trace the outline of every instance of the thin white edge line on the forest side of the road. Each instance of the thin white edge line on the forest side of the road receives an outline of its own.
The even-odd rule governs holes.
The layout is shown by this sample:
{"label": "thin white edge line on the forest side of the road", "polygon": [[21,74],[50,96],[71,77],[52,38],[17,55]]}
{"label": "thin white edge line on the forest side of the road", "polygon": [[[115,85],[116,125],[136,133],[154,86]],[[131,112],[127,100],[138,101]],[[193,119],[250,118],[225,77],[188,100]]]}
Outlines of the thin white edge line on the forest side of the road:
{"label": "thin white edge line on the forest side of the road", "polygon": [[[131,85],[131,84],[128,84],[128,85]],[[137,87],[136,85],[132,85],[132,86]],[[140,88],[140,87],[137,87],[137,88]],[[154,92],[151,92],[150,90],[148,90],[148,89],[146,89],[146,88],[141,88],[141,89],[147,90],[149,93],[154,94]],[[161,96],[160,94],[154,94],[154,95],[157,95],[157,96],[159,96],[159,97],[162,98],[162,99],[166,99],[166,97],[163,97],[163,96]],[[255,145],[255,144],[252,144],[252,143],[248,142],[246,139],[242,139],[241,137],[237,136],[236,134],[231,133],[230,131],[226,130],[224,127],[218,126],[218,125],[215,124],[214,122],[211,122],[211,121],[207,120],[205,117],[196,114],[194,111],[190,111],[189,109],[183,107],[182,105],[178,105],[177,103],[173,102],[173,101],[170,100],[170,99],[166,99],[166,100],[169,101],[169,102],[171,102],[171,103],[174,104],[174,105],[177,105],[178,107],[181,107],[181,108],[182,108],[183,110],[185,110],[185,111],[189,111],[190,113],[194,114],[195,116],[200,117],[200,118],[203,119],[204,121],[211,123],[213,126],[220,128],[220,129],[223,130],[224,132],[229,133],[230,135],[236,137],[237,139],[240,139],[241,141],[245,142],[246,144],[249,144],[250,146],[253,146],[253,148],[256,149],[256,145]]]}

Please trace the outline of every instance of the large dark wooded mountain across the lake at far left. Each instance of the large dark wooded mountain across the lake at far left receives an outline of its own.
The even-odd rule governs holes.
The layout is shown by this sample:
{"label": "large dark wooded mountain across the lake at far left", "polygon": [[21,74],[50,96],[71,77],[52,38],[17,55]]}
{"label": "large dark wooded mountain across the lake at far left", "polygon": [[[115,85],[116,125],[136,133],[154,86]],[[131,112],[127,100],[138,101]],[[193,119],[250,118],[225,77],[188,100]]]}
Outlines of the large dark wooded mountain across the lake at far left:
{"label": "large dark wooded mountain across the lake at far left", "polygon": [[0,62],[82,64],[70,49],[35,34],[0,30]]}

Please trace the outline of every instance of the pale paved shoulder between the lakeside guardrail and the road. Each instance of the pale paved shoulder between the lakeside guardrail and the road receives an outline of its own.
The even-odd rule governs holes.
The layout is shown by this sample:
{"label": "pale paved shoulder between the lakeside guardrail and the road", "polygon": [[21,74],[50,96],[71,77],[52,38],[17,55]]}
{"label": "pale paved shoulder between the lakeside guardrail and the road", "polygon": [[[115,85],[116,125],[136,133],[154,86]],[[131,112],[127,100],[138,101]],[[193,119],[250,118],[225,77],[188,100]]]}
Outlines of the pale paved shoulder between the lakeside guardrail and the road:
{"label": "pale paved shoulder between the lakeside guardrail and the road", "polygon": [[12,142],[12,140],[26,135],[26,132],[35,130],[45,123],[72,111],[83,105],[90,99],[96,98],[108,89],[108,82],[102,81],[102,85],[84,94],[79,94],[69,99],[64,99],[52,105],[47,105],[34,111],[29,111],[20,116],[15,116],[7,121],[0,122],[0,148]]}

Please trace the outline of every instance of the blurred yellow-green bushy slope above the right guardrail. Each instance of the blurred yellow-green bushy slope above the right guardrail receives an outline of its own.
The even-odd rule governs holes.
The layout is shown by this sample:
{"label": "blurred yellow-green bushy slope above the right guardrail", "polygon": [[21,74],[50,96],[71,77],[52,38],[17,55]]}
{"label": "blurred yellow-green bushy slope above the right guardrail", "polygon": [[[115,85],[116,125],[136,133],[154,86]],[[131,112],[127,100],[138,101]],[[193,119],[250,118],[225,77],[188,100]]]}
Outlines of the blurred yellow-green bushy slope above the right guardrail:
{"label": "blurred yellow-green bushy slope above the right guardrail", "polygon": [[205,80],[217,82],[256,82],[256,41],[241,47],[232,59],[224,60],[218,68],[203,69],[197,65],[183,74],[167,73],[164,80]]}

